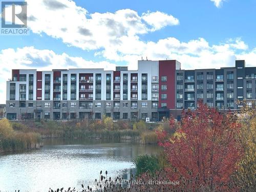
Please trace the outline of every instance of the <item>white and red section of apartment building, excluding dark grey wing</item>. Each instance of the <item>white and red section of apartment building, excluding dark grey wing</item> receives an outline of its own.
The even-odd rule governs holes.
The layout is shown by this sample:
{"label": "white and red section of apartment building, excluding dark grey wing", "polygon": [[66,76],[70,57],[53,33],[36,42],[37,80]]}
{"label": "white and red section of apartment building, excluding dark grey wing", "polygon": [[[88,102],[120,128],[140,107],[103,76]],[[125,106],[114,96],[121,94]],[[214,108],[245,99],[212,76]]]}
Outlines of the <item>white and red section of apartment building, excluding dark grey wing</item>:
{"label": "white and red section of apartment building, excluding dark grey wing", "polygon": [[101,119],[105,115],[156,121],[159,106],[175,108],[176,69],[180,69],[176,60],[141,60],[136,71],[127,67],[12,70],[7,81],[7,118]]}

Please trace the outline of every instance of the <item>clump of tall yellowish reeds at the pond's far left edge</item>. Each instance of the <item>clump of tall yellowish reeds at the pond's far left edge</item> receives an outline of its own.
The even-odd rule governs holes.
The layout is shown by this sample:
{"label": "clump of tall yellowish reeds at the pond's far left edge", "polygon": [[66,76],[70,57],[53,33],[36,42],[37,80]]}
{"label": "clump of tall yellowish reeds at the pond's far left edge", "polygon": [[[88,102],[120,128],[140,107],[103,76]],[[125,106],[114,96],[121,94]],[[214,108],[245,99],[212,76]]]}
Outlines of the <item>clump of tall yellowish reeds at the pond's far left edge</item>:
{"label": "clump of tall yellowish reeds at the pond's far left edge", "polygon": [[0,120],[0,153],[33,150],[41,145],[40,134],[16,131],[7,119]]}

